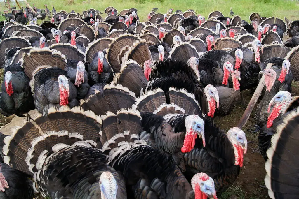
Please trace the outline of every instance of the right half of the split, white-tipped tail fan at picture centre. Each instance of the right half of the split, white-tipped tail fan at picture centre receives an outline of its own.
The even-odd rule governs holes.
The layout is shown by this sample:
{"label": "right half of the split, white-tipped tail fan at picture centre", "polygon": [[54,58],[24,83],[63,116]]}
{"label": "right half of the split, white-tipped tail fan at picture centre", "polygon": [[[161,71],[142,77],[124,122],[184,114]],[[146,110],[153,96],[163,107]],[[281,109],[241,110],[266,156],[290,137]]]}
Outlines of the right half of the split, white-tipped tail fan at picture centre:
{"label": "right half of the split, white-tipped tail fan at picture centre", "polygon": [[200,107],[198,101],[192,93],[188,93],[185,89],[176,90],[174,87],[169,89],[170,103],[176,104],[185,110],[187,115],[199,115]]}

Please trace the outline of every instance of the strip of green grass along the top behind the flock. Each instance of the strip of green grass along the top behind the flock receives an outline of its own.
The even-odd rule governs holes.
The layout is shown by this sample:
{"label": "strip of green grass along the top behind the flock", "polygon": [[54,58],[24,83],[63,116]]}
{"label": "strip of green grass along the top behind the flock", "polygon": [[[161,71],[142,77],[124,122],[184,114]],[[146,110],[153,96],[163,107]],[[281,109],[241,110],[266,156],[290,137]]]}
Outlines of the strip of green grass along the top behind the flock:
{"label": "strip of green grass along the top behind the flock", "polygon": [[[88,0],[86,0],[88,1]],[[230,7],[232,7],[236,15],[241,16],[244,20],[249,20],[249,15],[253,12],[260,13],[261,16],[271,17],[276,16],[279,18],[288,17],[289,19],[295,20],[299,19],[299,4],[295,1],[285,1],[285,0],[205,0],[205,1],[194,1],[194,0],[91,0],[86,4],[82,4],[82,0],[74,0],[73,5],[67,4],[68,0],[53,0],[53,1],[28,1],[30,5],[35,4],[38,8],[44,8],[44,4],[48,4],[49,10],[52,10],[51,5],[54,4],[55,9],[58,11],[75,10],[77,12],[82,12],[89,8],[95,8],[104,13],[104,10],[108,6],[114,6],[118,12],[123,9],[128,9],[135,7],[138,9],[138,16],[141,21],[147,19],[147,14],[152,10],[153,7],[158,7],[160,13],[166,13],[169,8],[174,8],[175,10],[182,10],[183,12],[188,9],[193,9],[196,13],[202,16],[208,17],[208,14],[214,10],[219,10],[225,16],[229,16]],[[19,2],[22,6],[25,5],[24,2]],[[16,4],[15,2],[11,3]],[[4,10],[4,3],[0,4],[0,10]],[[106,14],[103,14],[105,17]]]}

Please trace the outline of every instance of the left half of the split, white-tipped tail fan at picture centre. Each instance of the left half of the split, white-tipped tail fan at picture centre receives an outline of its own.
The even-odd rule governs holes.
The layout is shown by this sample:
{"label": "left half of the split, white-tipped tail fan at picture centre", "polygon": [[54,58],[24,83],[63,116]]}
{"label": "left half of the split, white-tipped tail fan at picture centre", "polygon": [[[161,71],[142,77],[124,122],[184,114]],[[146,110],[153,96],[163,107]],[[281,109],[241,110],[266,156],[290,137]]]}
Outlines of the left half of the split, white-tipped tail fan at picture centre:
{"label": "left half of the split, white-tipped tail fan at picture centre", "polygon": [[154,112],[162,104],[165,104],[164,92],[158,88],[153,91],[148,91],[145,95],[141,95],[136,99],[136,105],[133,108],[137,108],[141,112]]}

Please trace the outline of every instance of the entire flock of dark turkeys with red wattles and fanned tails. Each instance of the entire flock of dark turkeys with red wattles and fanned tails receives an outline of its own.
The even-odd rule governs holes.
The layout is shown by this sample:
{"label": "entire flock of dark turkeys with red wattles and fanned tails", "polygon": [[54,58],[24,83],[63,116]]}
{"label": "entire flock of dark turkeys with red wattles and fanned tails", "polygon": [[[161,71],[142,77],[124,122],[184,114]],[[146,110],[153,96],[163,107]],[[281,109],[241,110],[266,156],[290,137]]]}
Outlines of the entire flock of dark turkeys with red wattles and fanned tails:
{"label": "entire flock of dark turkeys with red wattles and fanned tails", "polygon": [[271,198],[298,198],[299,21],[157,11],[146,22],[136,8],[4,11],[0,111],[28,121],[0,133],[0,198],[216,199],[247,140],[213,118],[245,104],[262,75],[265,184]]}

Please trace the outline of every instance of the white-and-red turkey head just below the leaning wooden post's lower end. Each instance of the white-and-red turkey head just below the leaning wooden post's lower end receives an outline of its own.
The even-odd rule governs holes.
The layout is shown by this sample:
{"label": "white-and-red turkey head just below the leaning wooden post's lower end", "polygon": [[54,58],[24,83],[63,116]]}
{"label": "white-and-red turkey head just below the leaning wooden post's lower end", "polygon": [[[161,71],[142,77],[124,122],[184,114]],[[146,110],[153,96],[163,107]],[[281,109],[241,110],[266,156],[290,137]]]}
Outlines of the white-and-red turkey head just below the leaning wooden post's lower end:
{"label": "white-and-red turkey head just below the leaning wooden post's lower end", "polygon": [[244,131],[238,127],[228,130],[227,137],[234,148],[235,165],[243,166],[243,155],[247,151],[247,139]]}

